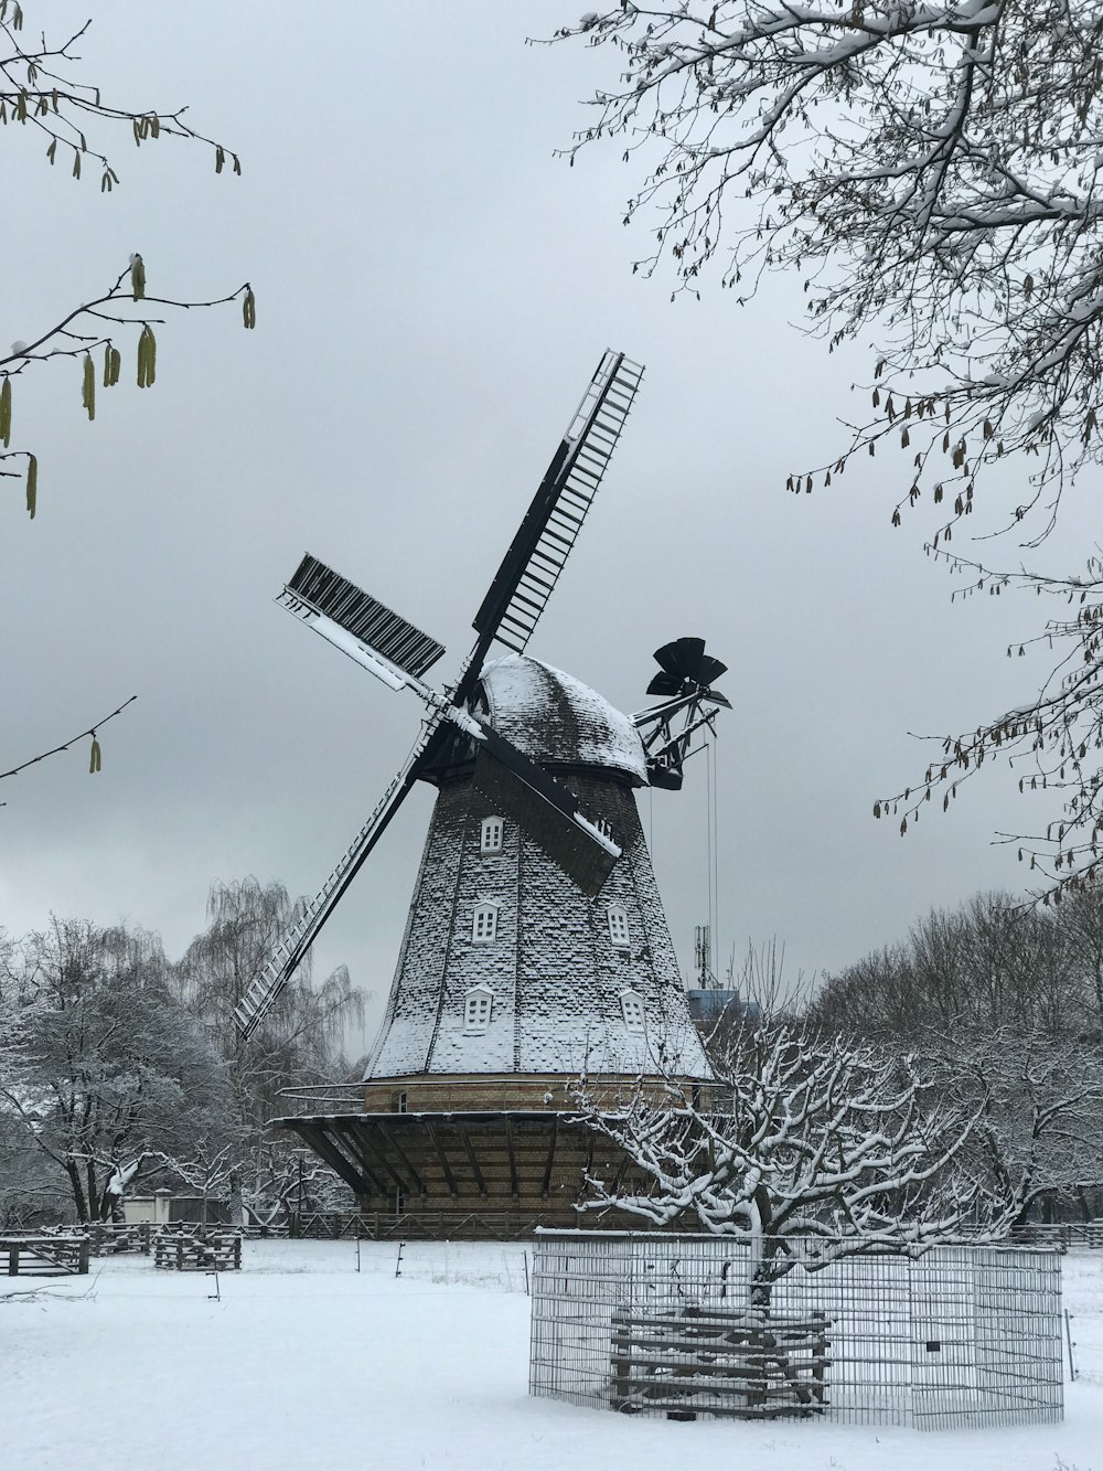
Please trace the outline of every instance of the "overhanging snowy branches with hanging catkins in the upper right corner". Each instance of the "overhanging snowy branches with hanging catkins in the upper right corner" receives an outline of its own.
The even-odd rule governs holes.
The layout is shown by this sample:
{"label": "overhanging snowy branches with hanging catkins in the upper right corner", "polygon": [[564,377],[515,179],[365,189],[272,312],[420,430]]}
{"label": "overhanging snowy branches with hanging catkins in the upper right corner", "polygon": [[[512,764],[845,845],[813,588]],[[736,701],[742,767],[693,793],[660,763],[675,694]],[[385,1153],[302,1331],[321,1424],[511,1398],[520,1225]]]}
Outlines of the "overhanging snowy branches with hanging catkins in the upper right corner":
{"label": "overhanging snowy branches with hanging catkins in the upper right corner", "polygon": [[813,332],[874,343],[868,412],[790,490],[896,447],[891,519],[931,506],[927,549],[965,593],[1068,605],[1007,650],[1053,640],[1040,693],[947,737],[875,815],[906,833],[1010,756],[1063,811],[1015,838],[1024,862],[1077,886],[1103,862],[1103,569],[990,571],[950,544],[987,496],[1035,546],[1103,457],[1103,0],[622,0],[572,38],[612,65],[569,152],[607,141],[643,171],[637,266],[665,260],[693,291],[713,268],[740,300],[766,271],[799,272]]}

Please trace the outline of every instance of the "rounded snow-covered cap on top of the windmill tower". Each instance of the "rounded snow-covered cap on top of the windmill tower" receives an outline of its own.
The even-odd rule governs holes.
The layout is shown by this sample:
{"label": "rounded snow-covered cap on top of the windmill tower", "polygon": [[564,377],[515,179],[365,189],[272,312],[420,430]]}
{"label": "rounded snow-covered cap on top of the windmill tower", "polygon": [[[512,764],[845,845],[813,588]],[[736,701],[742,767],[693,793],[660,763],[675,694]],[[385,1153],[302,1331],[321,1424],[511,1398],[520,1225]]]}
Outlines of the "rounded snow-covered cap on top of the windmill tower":
{"label": "rounded snow-covered cap on top of the windmill tower", "polygon": [[640,733],[581,680],[528,655],[507,655],[484,668],[482,693],[494,730],[541,766],[597,766],[647,784]]}

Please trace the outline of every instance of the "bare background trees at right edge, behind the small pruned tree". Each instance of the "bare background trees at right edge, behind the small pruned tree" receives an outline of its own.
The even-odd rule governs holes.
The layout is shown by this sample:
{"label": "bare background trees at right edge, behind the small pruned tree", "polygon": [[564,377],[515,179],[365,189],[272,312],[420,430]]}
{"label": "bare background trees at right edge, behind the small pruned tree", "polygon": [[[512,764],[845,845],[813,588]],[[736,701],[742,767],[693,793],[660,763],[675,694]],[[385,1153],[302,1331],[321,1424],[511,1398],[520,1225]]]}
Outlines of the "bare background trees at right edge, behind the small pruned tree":
{"label": "bare background trees at right edge, behind the small pruned tree", "polygon": [[809,1021],[910,1050],[974,1119],[960,1156],[969,1178],[1019,1225],[1082,1202],[1100,1177],[1102,958],[1097,894],[1054,911],[978,894],[829,977]]}

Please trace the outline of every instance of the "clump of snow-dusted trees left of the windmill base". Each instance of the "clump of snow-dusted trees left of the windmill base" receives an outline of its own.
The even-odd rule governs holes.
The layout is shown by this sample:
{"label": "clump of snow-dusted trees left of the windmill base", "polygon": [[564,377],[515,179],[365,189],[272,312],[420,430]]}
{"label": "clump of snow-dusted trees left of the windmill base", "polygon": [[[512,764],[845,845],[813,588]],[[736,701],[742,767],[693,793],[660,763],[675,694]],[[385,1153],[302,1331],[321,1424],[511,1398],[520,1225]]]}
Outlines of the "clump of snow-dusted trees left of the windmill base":
{"label": "clump of snow-dusted trees left of the windmill base", "polygon": [[341,1041],[362,1019],[360,991],[344,968],[313,986],[307,964],[249,1046],[232,1018],[294,909],[281,884],[215,884],[210,925],[176,964],[157,936],[122,925],[0,934],[0,1162],[13,1212],[40,1186],[68,1194],[82,1221],[154,1184],[229,1197],[262,1222],[299,1199],[347,1205],[331,1169],[266,1125],[281,1089],[350,1075]]}

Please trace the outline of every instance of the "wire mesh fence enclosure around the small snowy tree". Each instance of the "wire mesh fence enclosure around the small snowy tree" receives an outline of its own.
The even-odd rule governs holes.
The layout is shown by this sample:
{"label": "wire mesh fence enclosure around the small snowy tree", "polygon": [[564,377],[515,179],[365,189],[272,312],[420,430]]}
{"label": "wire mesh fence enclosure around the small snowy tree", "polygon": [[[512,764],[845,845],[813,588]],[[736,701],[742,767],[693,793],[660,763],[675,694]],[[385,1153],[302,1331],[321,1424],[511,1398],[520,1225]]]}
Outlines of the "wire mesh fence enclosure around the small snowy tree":
{"label": "wire mesh fence enclosure around the small snowy tree", "polygon": [[529,1393],[628,1414],[922,1430],[1057,1421],[1060,1253],[540,1231]]}

